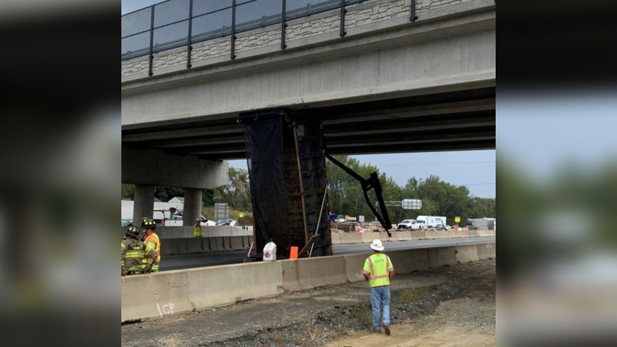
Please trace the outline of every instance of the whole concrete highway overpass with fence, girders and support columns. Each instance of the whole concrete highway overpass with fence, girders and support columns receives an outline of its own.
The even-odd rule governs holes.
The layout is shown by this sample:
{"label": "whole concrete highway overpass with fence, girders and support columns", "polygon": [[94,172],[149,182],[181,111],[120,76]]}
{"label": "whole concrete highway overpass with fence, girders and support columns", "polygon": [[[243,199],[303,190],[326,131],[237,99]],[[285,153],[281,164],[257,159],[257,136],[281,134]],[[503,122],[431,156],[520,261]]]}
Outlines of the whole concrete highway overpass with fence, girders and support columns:
{"label": "whole concrete highway overpass with fence, girders and support columns", "polygon": [[190,223],[201,190],[226,183],[225,159],[248,157],[253,198],[268,201],[254,204],[258,245],[318,230],[324,255],[323,151],[495,148],[494,0],[170,0],[123,16],[122,32],[136,220],[167,185],[185,188]]}

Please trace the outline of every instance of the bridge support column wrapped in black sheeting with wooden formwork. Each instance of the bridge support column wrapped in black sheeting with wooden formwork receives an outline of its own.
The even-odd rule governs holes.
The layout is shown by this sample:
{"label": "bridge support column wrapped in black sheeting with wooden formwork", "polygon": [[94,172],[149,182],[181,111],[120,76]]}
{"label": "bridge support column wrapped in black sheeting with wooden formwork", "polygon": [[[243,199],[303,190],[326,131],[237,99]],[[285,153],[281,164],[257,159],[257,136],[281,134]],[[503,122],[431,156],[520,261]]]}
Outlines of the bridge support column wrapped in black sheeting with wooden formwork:
{"label": "bridge support column wrapped in black sheeting with wooden formwork", "polygon": [[326,187],[321,123],[292,119],[284,109],[248,112],[240,121],[251,181],[255,256],[270,238],[279,259],[288,258],[292,246],[301,251],[312,242],[312,256],[331,255],[328,204],[321,209]]}

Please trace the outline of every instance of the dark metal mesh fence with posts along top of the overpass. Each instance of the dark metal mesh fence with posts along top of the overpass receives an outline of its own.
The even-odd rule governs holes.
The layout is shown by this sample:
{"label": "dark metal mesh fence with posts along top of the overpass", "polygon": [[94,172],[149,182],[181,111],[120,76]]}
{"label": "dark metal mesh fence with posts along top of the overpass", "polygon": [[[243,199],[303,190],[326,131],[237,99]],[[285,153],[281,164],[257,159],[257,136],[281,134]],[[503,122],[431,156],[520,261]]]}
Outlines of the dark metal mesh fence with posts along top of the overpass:
{"label": "dark metal mesh fence with posts along top of the overpass", "polygon": [[[281,23],[281,49],[286,48],[286,22],[309,15],[341,10],[340,36],[346,35],[347,7],[380,0],[167,0],[122,16],[121,60],[149,56],[152,76],[154,53],[187,47],[186,68],[191,68],[192,44],[230,36],[230,59],[235,59],[236,34]],[[415,0],[410,21],[417,19]]]}

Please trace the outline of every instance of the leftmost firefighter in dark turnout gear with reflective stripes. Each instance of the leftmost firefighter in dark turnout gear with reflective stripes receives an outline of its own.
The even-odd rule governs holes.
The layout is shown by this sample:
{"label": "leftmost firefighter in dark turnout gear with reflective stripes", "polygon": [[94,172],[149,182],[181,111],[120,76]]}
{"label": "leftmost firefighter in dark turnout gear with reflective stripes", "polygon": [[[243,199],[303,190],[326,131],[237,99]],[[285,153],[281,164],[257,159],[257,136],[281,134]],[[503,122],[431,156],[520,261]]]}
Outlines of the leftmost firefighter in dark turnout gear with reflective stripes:
{"label": "leftmost firefighter in dark turnout gear with reflective stripes", "polygon": [[126,227],[126,236],[120,243],[120,264],[122,264],[120,269],[122,276],[147,274],[152,270],[152,263],[157,255],[156,251],[154,248],[149,251],[149,257],[153,260],[144,265],[146,245],[138,240],[139,233],[141,233],[141,228],[133,224]]}

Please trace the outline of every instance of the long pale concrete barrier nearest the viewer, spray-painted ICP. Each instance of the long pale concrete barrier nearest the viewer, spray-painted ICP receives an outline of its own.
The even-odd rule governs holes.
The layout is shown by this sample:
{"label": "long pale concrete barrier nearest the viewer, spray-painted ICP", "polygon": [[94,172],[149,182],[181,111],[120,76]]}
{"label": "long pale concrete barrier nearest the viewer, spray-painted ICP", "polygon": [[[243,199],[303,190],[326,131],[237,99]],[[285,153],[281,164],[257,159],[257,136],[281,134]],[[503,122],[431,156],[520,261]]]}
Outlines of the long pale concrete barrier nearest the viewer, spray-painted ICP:
{"label": "long pale concrete barrier nearest the viewer, spray-painted ICP", "polygon": [[[222,238],[201,241],[204,240],[221,240],[223,243]],[[220,265],[124,277],[122,322],[263,298],[284,290],[362,281],[362,268],[369,254]],[[494,258],[495,243],[404,249],[386,251],[386,254],[391,257],[395,272],[408,274],[473,261],[476,257]]]}

